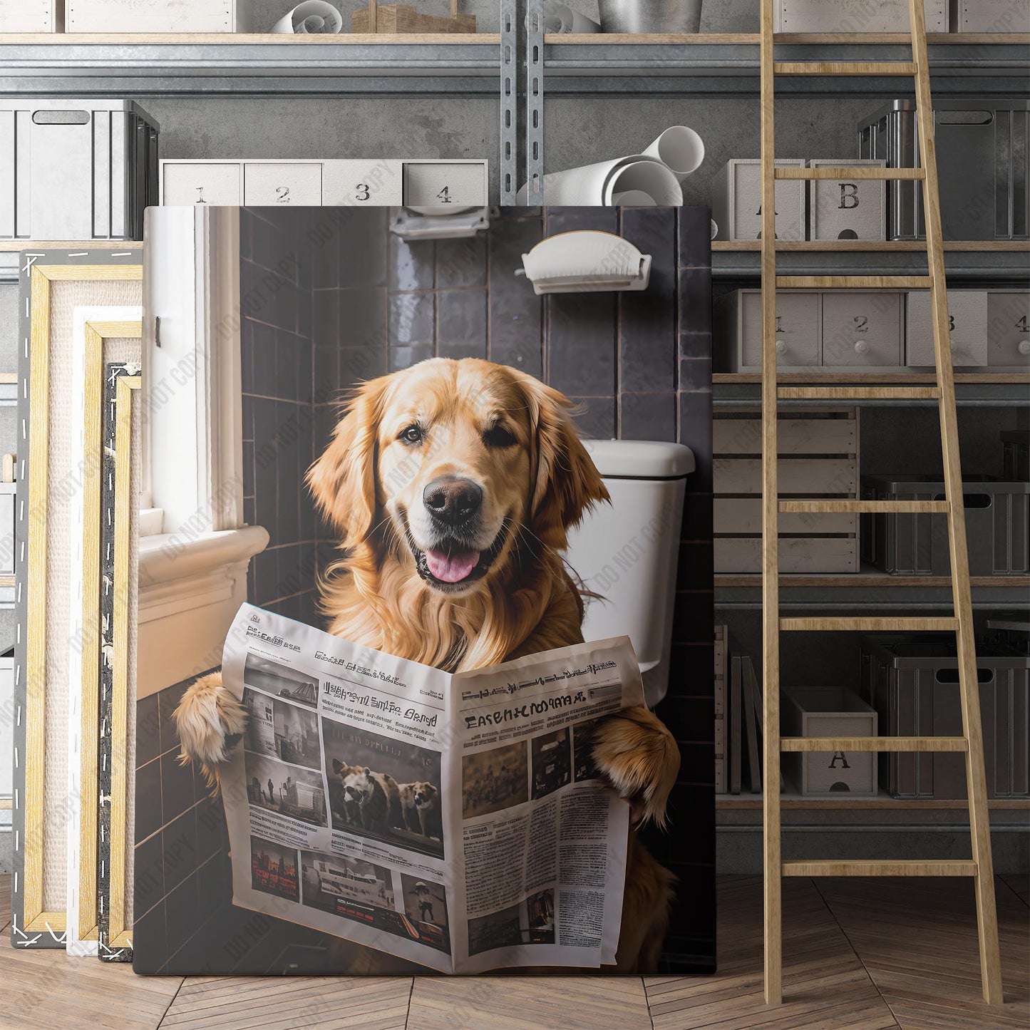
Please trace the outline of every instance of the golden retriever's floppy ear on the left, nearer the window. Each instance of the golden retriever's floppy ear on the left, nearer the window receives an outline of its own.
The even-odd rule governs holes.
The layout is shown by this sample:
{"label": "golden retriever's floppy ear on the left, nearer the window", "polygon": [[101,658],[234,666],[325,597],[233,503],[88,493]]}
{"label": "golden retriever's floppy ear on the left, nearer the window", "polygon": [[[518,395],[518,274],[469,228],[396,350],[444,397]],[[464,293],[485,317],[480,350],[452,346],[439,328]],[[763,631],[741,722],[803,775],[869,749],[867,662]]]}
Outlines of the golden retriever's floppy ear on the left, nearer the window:
{"label": "golden retriever's floppy ear on the left, nearer the window", "polygon": [[319,511],[353,547],[372,529],[376,513],[376,433],[386,377],[357,387],[330,445],[308,469],[308,488]]}

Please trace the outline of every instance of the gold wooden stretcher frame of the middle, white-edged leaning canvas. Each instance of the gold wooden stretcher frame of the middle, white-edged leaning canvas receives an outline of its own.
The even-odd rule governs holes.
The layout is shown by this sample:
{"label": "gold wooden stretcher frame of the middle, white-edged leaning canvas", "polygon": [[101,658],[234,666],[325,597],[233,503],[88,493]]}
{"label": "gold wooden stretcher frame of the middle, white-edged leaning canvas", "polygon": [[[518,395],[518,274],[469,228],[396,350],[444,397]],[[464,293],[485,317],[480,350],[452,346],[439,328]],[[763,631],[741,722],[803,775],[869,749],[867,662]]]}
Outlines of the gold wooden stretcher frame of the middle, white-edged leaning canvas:
{"label": "gold wooden stretcher frame of the middle, white-edged leaning canvas", "polygon": [[[104,471],[104,341],[141,340],[141,321],[87,321],[82,424],[82,699],[79,706],[78,939],[99,940],[97,741],[100,733],[100,520]],[[121,396],[121,394],[119,394]],[[119,581],[121,582],[121,581]],[[124,735],[124,734],[123,734]],[[125,805],[118,824],[125,827]],[[111,824],[115,810],[111,810]]]}

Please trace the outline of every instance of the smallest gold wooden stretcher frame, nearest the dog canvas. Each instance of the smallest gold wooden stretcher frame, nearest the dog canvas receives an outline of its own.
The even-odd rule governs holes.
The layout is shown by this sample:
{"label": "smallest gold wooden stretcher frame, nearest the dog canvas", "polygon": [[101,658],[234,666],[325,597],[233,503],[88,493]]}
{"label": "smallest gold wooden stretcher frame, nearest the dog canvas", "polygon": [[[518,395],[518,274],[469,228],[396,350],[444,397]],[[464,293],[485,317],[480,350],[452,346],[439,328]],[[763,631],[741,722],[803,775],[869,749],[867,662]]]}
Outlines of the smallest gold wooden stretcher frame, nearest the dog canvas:
{"label": "smallest gold wooden stretcher frame, nearest the dog canvas", "polygon": [[[139,376],[122,376],[115,393],[114,416],[114,582],[129,581],[129,545],[132,538],[132,406],[140,388]],[[126,794],[129,769],[126,749],[119,747],[128,729],[129,707],[129,593],[114,591],[114,644],[111,677],[111,824],[107,834],[110,854],[108,879],[107,947],[132,946],[132,927],[126,926]]]}

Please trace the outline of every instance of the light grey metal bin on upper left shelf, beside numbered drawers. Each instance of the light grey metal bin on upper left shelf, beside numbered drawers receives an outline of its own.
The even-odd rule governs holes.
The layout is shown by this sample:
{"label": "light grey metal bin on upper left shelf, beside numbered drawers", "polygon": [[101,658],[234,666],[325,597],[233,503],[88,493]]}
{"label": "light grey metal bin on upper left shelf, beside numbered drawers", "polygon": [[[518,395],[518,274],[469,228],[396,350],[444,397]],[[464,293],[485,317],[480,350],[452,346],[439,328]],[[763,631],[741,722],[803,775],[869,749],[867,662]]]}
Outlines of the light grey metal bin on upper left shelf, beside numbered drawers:
{"label": "light grey metal bin on upper left shelf, beside numbered drawers", "polygon": [[131,100],[0,99],[0,239],[141,240],[158,134]]}

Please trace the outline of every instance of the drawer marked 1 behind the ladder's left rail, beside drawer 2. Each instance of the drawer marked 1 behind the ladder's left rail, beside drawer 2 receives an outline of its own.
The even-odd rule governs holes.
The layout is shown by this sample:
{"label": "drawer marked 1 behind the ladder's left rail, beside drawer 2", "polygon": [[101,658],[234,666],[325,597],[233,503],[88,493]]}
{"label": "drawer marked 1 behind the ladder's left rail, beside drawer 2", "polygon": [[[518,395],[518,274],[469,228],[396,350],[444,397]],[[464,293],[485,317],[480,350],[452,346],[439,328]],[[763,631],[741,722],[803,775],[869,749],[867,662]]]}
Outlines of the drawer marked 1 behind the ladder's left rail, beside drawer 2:
{"label": "drawer marked 1 behind the ladder's left rail, beside drawer 2", "polygon": [[[777,366],[782,369],[819,365],[819,294],[781,290],[777,295]],[[718,304],[720,334],[734,372],[761,372],[762,295],[739,289]]]}

